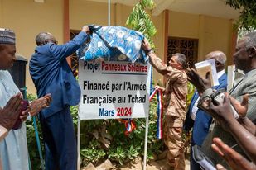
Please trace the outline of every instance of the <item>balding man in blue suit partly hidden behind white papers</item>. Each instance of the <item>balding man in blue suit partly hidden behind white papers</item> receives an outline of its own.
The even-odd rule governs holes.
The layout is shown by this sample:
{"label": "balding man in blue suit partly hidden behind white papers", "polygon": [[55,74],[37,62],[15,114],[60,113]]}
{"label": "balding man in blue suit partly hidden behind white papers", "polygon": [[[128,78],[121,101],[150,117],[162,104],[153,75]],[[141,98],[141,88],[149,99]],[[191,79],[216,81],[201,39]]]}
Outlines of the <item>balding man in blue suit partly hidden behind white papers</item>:
{"label": "balding man in blue suit partly hidden behind white papers", "polygon": [[[215,89],[225,88],[227,90],[227,75],[225,74],[225,61],[226,56],[221,51],[213,51],[206,55],[205,59],[215,59],[216,71],[218,74],[219,85],[215,86]],[[184,123],[184,130],[189,131],[191,128],[191,147],[195,144],[201,146],[205,140],[206,135],[209,132],[209,128],[212,122],[212,117],[205,111],[197,107],[199,101],[199,94],[195,92],[191,98],[191,105],[186,113],[186,120]],[[200,170],[200,165],[192,158],[191,149],[191,170]]]}

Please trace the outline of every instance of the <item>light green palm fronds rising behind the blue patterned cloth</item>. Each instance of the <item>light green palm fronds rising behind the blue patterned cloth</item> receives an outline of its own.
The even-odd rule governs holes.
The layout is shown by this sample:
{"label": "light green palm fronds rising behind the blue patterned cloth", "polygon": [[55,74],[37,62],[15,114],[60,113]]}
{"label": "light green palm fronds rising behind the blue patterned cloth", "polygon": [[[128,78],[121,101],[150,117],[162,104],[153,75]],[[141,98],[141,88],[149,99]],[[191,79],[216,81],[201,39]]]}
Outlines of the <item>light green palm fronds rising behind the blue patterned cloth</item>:
{"label": "light green palm fronds rising behind the blue patterned cloth", "polygon": [[146,10],[152,11],[154,7],[156,3],[153,0],[140,0],[126,21],[126,26],[146,36],[152,48],[155,47],[152,36],[157,35],[157,29]]}

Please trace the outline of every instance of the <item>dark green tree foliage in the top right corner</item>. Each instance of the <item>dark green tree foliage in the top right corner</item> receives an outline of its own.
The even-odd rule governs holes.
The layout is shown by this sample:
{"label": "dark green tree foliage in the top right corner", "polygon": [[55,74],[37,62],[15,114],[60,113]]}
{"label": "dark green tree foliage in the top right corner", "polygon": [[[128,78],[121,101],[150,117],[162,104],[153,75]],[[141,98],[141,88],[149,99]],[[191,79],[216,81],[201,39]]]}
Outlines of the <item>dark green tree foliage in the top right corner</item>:
{"label": "dark green tree foliage in the top right corner", "polygon": [[225,0],[225,3],[234,9],[242,9],[237,27],[242,30],[256,28],[256,1],[255,0]]}

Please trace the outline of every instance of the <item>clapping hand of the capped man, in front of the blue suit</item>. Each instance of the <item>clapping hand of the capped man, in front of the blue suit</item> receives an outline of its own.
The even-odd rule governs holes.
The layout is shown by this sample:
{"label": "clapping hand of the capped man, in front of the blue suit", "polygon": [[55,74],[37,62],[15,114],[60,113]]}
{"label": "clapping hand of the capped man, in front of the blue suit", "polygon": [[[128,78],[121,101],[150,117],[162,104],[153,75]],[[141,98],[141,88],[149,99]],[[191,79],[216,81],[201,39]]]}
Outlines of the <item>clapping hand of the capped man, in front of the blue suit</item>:
{"label": "clapping hand of the capped man, in front of the blue suit", "polygon": [[31,102],[30,104],[30,114],[35,116],[43,108],[46,108],[51,103],[51,94],[46,94],[46,96],[38,98]]}

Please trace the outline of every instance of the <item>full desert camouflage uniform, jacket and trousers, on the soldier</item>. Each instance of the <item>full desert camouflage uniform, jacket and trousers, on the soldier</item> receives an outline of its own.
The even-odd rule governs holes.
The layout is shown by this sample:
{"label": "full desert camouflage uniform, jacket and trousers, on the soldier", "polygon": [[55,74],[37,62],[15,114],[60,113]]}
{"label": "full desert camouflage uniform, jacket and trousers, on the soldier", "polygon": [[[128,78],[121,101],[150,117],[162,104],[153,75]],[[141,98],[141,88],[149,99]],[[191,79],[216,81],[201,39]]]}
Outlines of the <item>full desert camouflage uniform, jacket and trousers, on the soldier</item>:
{"label": "full desert camouflage uniform, jacket and trousers, on the soldier", "polygon": [[178,70],[162,64],[156,56],[150,59],[157,71],[167,78],[164,91],[163,140],[167,145],[167,158],[175,170],[185,169],[182,127],[186,117],[187,77],[185,70]]}

